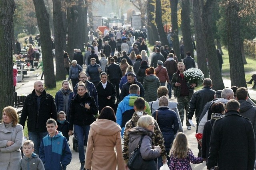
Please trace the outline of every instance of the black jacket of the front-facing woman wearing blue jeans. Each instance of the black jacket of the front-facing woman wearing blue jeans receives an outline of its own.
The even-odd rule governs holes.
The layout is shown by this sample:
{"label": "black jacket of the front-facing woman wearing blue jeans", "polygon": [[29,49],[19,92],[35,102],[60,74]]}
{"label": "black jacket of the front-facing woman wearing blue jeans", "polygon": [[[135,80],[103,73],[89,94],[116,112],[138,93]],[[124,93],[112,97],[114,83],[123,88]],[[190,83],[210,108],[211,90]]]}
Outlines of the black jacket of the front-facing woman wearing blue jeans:
{"label": "black jacket of the front-facing woman wearing blue jeans", "polygon": [[[90,109],[84,107],[84,104],[86,103],[90,105]],[[85,93],[84,98],[81,98],[79,94],[76,94],[70,107],[69,130],[73,130],[73,125],[90,125],[95,121],[93,115],[98,113],[98,107],[96,106],[94,98],[87,92]]]}

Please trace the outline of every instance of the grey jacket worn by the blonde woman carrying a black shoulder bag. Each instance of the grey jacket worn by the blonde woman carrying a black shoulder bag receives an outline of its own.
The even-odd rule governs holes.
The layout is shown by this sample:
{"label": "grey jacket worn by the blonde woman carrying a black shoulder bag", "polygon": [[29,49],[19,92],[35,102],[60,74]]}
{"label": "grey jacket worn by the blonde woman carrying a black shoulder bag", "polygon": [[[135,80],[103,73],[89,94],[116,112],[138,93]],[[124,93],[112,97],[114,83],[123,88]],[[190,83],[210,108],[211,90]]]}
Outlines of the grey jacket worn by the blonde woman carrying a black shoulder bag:
{"label": "grey jacket worn by the blonde woman carrying a black shoulder bag", "polygon": [[[145,160],[156,159],[160,156],[160,152],[157,149],[153,149],[152,137],[154,133],[143,127],[134,127],[128,130],[129,135],[129,158],[132,156],[132,152],[138,147],[142,135],[145,135],[141,142],[140,154]],[[156,162],[157,165],[157,162]],[[157,167],[157,166],[156,166]]]}

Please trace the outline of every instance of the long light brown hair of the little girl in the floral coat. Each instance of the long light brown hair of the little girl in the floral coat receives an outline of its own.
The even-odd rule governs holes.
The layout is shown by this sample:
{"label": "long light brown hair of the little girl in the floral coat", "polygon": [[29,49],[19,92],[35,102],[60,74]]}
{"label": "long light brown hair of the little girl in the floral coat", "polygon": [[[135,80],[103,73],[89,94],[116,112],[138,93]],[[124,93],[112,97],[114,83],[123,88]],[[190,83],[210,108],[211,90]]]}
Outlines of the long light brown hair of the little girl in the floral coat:
{"label": "long light brown hair of the little girl in the floral coat", "polygon": [[185,133],[179,132],[173,141],[169,156],[173,155],[176,158],[186,158],[189,150],[187,136]]}

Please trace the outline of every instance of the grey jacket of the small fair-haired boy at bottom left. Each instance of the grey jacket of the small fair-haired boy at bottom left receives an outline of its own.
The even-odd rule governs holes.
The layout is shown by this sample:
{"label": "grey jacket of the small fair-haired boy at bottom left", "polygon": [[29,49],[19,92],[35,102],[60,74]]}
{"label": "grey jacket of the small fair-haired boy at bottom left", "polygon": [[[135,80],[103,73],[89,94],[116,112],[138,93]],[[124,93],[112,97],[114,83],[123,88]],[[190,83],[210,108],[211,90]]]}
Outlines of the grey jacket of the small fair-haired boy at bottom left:
{"label": "grey jacket of the small fair-haired boy at bottom left", "polygon": [[30,158],[23,156],[19,162],[19,170],[44,170],[44,164],[39,156],[33,152]]}

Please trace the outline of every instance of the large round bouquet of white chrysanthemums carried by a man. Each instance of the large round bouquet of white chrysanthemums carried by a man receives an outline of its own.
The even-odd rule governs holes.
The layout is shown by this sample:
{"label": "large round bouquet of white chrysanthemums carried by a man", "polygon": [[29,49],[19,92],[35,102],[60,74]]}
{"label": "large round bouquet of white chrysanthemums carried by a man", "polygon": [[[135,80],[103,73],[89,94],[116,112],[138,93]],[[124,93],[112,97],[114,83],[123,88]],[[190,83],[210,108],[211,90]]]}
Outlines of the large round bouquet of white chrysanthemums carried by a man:
{"label": "large round bouquet of white chrysanthemums carried by a man", "polygon": [[192,67],[186,70],[183,74],[184,74],[184,78],[189,84],[192,84],[192,83],[197,84],[198,82],[204,80],[204,73],[198,68]]}

